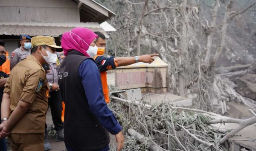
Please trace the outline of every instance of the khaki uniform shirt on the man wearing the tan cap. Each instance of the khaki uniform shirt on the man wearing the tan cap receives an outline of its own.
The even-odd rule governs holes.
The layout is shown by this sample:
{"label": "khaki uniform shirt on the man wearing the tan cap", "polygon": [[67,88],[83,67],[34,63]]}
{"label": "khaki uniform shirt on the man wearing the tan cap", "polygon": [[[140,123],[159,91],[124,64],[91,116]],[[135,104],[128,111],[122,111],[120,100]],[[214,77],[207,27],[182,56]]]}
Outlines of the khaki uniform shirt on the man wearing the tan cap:
{"label": "khaki uniform shirt on the man wearing the tan cap", "polygon": [[4,92],[11,97],[10,114],[19,101],[31,104],[24,117],[12,128],[11,133],[44,133],[49,86],[44,68],[34,56],[28,56],[12,69]]}

